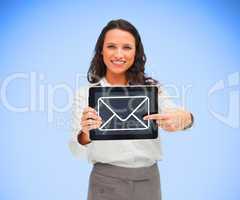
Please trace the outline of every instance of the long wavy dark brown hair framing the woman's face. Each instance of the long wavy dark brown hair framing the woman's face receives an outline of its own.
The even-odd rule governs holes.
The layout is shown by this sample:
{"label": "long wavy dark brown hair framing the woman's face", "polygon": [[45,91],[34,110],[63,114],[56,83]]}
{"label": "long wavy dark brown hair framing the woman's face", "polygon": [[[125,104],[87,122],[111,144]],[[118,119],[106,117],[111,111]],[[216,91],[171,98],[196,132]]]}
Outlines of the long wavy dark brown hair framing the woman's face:
{"label": "long wavy dark brown hair framing the woman's face", "polygon": [[128,21],[123,19],[110,21],[100,33],[92,58],[90,67],[88,69],[87,78],[90,83],[96,83],[100,81],[106,75],[106,65],[102,57],[102,49],[104,38],[107,31],[112,29],[120,29],[131,33],[135,38],[136,54],[133,65],[127,70],[126,78],[130,85],[152,85],[158,82],[151,77],[145,75],[145,63],[146,55],[142,41],[137,29]]}

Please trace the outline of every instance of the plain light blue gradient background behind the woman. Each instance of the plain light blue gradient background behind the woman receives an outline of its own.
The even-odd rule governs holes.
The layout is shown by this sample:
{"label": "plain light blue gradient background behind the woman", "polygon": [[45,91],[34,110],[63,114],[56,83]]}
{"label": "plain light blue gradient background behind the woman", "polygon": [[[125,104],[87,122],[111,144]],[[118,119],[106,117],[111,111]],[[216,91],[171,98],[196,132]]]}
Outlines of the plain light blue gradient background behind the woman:
{"label": "plain light blue gradient background behind the woman", "polygon": [[[216,82],[227,83],[228,75],[239,72],[239,11],[238,1],[1,1],[1,87],[13,73],[37,72],[44,74],[37,87],[46,93],[49,84],[75,90],[75,74],[86,74],[102,27],[127,19],[142,36],[147,73],[179,89],[192,85],[186,106],[195,127],[160,132],[163,199],[239,200],[239,126],[222,123],[208,109],[210,101],[227,114],[229,93],[239,91],[237,85],[208,97]],[[9,102],[29,105],[29,88],[29,81],[13,81]],[[58,106],[67,100],[65,91],[56,92]],[[71,111],[56,112],[48,122],[46,109],[14,113],[2,99],[0,109],[0,199],[86,199],[91,165],[68,149]]]}

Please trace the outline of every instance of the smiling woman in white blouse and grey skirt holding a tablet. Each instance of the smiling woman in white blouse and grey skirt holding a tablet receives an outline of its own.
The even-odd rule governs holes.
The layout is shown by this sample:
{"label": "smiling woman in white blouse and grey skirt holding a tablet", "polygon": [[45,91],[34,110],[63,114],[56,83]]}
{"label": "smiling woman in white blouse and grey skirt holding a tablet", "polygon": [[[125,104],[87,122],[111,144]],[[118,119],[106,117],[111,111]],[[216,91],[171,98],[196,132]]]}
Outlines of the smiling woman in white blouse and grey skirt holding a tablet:
{"label": "smiling woman in white blouse and grey skirt holding a tablet", "polygon": [[[146,77],[146,57],[140,35],[125,20],[110,21],[102,30],[95,47],[88,81],[101,86],[151,85],[157,81]],[[160,110],[165,114],[145,116],[156,120],[166,131],[190,127],[191,113],[178,109],[160,89]],[[94,164],[90,176],[88,200],[159,200],[160,178],[157,161],[161,159],[160,138],[153,140],[90,141],[89,131],[102,121],[96,110],[79,109],[87,95],[77,95],[74,108],[74,139]],[[86,104],[85,104],[86,105]]]}

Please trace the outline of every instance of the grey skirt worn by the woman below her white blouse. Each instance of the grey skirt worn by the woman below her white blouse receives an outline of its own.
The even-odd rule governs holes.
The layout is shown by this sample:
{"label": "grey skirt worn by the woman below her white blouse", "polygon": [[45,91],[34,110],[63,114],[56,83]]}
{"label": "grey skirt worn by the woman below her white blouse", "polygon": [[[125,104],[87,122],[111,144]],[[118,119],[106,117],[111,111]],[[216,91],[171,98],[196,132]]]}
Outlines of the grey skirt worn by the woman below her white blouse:
{"label": "grey skirt worn by the woman below her white blouse", "polygon": [[90,175],[88,200],[161,200],[158,165],[125,168],[97,163]]}

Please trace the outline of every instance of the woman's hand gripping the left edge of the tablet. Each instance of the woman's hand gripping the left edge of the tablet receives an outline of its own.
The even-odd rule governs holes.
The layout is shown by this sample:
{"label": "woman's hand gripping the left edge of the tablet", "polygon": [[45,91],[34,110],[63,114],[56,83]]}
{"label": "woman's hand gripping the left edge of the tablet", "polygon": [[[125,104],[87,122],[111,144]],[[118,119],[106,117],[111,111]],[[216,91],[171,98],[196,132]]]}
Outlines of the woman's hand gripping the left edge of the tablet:
{"label": "woman's hand gripping the left edge of the tablet", "polygon": [[81,118],[82,132],[89,136],[91,129],[99,128],[102,124],[102,119],[98,116],[97,111],[91,107],[86,107],[83,110]]}

